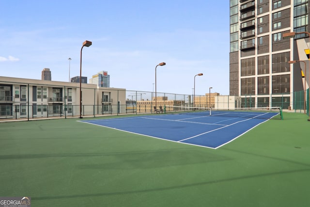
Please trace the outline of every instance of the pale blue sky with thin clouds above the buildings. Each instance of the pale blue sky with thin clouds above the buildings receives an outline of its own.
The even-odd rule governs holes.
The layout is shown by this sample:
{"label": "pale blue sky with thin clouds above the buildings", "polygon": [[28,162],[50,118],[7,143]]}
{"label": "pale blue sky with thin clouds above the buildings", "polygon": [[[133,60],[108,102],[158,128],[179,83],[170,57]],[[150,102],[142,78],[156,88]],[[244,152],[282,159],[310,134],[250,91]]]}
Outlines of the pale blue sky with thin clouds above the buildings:
{"label": "pale blue sky with thin clouds above the buildings", "polygon": [[[229,1],[1,0],[0,76],[89,79],[157,93],[229,95]],[[71,58],[71,61],[68,60]],[[70,67],[69,67],[70,65]],[[203,76],[196,76],[203,73]]]}

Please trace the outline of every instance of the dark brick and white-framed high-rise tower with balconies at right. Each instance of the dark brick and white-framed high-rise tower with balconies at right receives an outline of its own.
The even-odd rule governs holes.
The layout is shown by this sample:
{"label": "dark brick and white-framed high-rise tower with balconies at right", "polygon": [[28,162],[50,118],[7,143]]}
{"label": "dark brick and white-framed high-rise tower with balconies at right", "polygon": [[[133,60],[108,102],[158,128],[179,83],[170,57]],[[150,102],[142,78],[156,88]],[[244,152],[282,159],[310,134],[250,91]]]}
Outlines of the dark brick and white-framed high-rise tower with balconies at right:
{"label": "dark brick and white-framed high-rise tower with balconies at right", "polygon": [[230,0],[230,95],[241,106],[288,109],[309,88],[308,11],[308,0]]}

